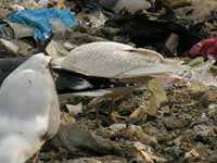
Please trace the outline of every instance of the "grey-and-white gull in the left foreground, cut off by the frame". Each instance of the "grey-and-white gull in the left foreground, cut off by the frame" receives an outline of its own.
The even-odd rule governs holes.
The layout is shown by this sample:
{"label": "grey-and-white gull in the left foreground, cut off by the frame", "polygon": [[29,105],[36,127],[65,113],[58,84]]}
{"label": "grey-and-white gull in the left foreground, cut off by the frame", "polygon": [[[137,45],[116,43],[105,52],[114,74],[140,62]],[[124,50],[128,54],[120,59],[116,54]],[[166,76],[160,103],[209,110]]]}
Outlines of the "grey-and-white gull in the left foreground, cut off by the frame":
{"label": "grey-and-white gull in the left foreground, cut off by the frame", "polygon": [[0,162],[24,163],[60,125],[60,108],[49,70],[51,58],[36,54],[0,88]]}

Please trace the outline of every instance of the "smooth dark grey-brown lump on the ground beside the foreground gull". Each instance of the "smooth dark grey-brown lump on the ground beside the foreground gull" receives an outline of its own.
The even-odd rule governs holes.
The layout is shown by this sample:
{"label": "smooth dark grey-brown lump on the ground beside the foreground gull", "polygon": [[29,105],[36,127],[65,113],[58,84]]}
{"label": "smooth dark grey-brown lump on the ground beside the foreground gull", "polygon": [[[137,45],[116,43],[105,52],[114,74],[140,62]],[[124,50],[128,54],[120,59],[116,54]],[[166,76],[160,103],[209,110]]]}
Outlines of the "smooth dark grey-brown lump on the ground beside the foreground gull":
{"label": "smooth dark grey-brown lump on the ground beside the foreground gull", "polygon": [[53,139],[54,147],[67,149],[71,155],[122,155],[118,145],[94,135],[78,124],[65,123],[61,125],[56,137]]}

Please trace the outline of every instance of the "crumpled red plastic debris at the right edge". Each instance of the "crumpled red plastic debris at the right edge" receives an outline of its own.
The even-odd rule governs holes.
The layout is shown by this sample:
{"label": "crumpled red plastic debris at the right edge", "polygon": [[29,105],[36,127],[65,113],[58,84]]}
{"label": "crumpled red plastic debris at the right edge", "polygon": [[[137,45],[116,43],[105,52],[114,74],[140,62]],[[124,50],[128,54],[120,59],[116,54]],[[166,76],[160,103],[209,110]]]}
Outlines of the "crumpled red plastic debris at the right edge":
{"label": "crumpled red plastic debris at the right edge", "polygon": [[217,60],[217,37],[210,36],[193,46],[188,52],[189,57],[204,57]]}

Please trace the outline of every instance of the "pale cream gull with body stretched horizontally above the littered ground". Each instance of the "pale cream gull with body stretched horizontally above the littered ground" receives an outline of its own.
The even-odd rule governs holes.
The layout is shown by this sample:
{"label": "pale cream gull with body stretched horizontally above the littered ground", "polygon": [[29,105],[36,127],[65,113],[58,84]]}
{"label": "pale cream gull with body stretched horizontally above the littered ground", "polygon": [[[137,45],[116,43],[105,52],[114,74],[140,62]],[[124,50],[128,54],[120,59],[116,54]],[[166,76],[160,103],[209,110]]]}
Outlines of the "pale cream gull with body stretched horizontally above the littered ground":
{"label": "pale cream gull with body stretched horizontally above the littered ground", "polygon": [[117,42],[84,45],[74,49],[65,59],[53,62],[68,71],[107,78],[168,73],[175,67],[179,68],[180,63],[180,61],[164,59],[153,50],[137,49]]}

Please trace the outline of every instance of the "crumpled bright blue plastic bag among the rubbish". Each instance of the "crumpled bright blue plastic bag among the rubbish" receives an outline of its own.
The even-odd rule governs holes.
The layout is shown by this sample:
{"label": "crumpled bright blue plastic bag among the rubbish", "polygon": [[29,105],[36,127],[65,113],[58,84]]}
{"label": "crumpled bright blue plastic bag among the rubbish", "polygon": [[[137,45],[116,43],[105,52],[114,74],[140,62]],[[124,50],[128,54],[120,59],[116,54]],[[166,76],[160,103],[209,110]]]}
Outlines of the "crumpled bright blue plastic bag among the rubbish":
{"label": "crumpled bright blue plastic bag among the rubbish", "polygon": [[28,25],[35,28],[34,38],[44,41],[52,33],[50,18],[59,18],[65,26],[78,24],[77,18],[67,9],[56,10],[55,8],[27,9],[16,13],[9,14],[9,21]]}

